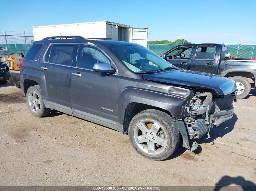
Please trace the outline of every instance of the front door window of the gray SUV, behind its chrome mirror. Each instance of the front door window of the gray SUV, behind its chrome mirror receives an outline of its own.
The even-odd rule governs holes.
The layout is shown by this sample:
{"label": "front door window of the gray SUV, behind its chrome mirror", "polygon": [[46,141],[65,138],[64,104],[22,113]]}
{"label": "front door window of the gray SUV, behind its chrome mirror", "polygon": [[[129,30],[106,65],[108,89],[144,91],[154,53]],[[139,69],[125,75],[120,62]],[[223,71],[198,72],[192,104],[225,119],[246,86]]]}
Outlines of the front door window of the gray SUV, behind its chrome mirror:
{"label": "front door window of the gray SUV, behind its chrome mirror", "polygon": [[93,70],[95,63],[105,62],[111,65],[110,60],[99,49],[93,46],[80,44],[77,52],[76,67]]}

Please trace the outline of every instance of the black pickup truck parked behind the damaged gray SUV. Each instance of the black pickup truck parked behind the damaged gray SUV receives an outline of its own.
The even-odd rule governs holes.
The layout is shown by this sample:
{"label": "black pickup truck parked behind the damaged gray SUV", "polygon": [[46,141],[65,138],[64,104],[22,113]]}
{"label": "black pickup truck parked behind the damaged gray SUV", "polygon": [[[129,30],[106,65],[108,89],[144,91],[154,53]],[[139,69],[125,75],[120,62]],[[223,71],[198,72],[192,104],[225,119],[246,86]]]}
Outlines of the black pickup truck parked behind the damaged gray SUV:
{"label": "black pickup truck parked behind the damaged gray SUV", "polygon": [[228,47],[223,44],[182,44],[167,51],[162,58],[185,70],[231,78],[236,82],[238,99],[246,97],[255,87],[256,61],[229,59]]}

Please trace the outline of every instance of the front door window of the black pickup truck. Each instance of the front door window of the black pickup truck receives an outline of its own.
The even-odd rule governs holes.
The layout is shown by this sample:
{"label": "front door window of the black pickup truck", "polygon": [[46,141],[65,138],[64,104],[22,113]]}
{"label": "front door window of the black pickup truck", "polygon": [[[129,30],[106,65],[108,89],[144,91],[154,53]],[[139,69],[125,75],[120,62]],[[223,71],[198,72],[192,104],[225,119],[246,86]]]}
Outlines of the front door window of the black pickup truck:
{"label": "front door window of the black pickup truck", "polygon": [[[166,59],[186,59],[188,60],[191,54],[192,46],[182,46],[174,49],[166,55]],[[185,57],[182,57],[181,54],[184,54]]]}

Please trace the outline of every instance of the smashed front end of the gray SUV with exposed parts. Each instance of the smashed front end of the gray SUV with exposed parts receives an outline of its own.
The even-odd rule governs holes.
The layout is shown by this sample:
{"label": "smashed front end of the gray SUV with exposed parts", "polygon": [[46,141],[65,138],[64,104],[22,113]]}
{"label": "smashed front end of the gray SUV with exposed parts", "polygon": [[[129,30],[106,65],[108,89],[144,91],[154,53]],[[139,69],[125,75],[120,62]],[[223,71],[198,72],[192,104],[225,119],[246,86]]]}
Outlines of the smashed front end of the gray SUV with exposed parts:
{"label": "smashed front end of the gray SUV with exposed parts", "polygon": [[207,139],[211,138],[212,127],[218,127],[233,117],[232,103],[236,100],[235,87],[231,93],[224,95],[217,95],[210,91],[195,91],[185,106],[187,116],[175,119],[183,137],[183,147],[194,151],[198,144],[195,141],[190,144],[189,139],[200,138],[205,134],[208,135]]}

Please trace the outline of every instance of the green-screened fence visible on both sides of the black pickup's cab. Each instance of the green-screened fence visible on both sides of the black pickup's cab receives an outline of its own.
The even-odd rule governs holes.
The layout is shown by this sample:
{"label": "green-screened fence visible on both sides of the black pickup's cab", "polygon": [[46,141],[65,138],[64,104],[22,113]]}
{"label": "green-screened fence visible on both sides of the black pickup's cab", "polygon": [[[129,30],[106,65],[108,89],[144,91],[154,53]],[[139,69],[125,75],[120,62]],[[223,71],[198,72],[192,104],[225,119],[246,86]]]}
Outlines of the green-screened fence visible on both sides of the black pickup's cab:
{"label": "green-screened fence visible on both sides of the black pickup's cab", "polygon": [[[181,44],[148,44],[147,48],[161,56],[168,50]],[[228,52],[235,58],[253,59],[256,57],[255,44],[226,44]]]}

